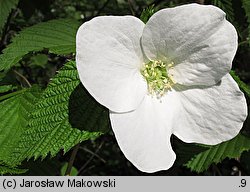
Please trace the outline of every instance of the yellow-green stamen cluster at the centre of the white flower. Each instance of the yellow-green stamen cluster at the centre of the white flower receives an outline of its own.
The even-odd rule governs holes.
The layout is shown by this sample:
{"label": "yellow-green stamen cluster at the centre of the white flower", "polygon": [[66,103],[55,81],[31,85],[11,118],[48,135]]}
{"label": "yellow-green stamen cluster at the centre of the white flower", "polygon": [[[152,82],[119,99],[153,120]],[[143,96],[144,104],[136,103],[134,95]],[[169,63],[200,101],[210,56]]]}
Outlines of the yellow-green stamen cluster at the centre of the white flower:
{"label": "yellow-green stamen cluster at the centre of the white flower", "polygon": [[168,70],[173,68],[173,64],[173,62],[164,63],[156,60],[143,65],[141,74],[147,81],[149,94],[159,98],[172,89],[175,83]]}

